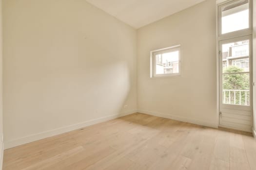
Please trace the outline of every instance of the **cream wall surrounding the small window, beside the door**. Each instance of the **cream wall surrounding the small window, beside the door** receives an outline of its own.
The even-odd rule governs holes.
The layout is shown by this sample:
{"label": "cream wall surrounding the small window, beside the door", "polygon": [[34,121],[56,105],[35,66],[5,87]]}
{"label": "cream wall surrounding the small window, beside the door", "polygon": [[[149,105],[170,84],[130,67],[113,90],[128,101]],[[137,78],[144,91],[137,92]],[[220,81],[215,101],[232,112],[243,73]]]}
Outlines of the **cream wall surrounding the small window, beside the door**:
{"label": "cream wall surrounding the small window, beside the door", "polygon": [[[138,111],[217,127],[216,0],[138,29]],[[150,78],[150,51],[181,45],[181,76]]]}

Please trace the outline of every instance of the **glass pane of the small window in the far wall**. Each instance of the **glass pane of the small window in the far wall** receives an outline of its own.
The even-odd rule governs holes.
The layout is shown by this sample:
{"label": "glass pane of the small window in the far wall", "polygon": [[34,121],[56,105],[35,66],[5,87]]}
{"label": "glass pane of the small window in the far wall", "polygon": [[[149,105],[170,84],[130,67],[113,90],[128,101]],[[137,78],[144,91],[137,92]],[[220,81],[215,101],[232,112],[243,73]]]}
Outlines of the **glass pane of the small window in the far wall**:
{"label": "glass pane of the small window in the far wall", "polygon": [[179,51],[156,55],[156,74],[179,73]]}

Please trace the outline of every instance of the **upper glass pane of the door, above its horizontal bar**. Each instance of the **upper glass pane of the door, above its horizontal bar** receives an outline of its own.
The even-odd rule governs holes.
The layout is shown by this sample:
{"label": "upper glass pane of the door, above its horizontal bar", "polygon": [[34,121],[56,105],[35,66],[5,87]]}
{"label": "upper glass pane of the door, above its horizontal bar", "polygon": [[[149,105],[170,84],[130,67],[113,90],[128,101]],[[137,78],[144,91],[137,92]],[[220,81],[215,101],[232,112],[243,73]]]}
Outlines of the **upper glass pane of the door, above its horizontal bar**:
{"label": "upper glass pane of the door, above its horizontal bar", "polygon": [[222,45],[223,73],[249,71],[249,40]]}

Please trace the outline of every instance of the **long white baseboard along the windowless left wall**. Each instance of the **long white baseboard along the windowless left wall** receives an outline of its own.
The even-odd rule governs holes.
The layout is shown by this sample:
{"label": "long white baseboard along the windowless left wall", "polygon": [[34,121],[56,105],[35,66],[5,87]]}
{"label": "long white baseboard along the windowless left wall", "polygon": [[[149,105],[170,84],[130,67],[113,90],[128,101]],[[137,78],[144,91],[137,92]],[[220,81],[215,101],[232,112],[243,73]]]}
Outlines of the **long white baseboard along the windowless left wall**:
{"label": "long white baseboard along the windowless left wall", "polygon": [[30,135],[30,136],[24,136],[24,137],[21,137],[21,138],[18,138],[18,139],[10,140],[10,141],[4,141],[4,149],[13,148],[13,147],[23,145],[23,144],[26,144],[26,143],[30,143],[30,142],[33,142],[33,141],[37,141],[37,140],[40,140],[40,139],[43,139],[43,138],[46,138],[46,137],[56,136],[56,135],[59,135],[59,134],[70,132],[70,131],[73,131],[73,130],[76,130],[76,129],[79,129],[79,128],[83,128],[83,127],[90,126],[90,125],[93,125],[93,124],[97,124],[97,123],[100,123],[100,122],[104,122],[104,121],[107,121],[107,120],[116,119],[116,118],[119,118],[119,117],[130,115],[130,114],[133,114],[133,113],[136,113],[136,112],[137,112],[137,110],[130,110],[130,111],[127,111],[127,112],[124,112],[124,113],[121,113],[121,114],[117,114],[117,115],[110,115],[110,116],[106,116],[106,117],[102,117],[102,118],[98,118],[98,119],[92,119],[92,120],[77,123],[77,124],[74,124],[74,125],[69,125],[69,126],[66,126],[66,127],[61,127],[61,128],[53,129],[53,130],[50,130],[50,131],[41,132],[41,133],[38,133],[38,134],[33,134],[33,135]]}

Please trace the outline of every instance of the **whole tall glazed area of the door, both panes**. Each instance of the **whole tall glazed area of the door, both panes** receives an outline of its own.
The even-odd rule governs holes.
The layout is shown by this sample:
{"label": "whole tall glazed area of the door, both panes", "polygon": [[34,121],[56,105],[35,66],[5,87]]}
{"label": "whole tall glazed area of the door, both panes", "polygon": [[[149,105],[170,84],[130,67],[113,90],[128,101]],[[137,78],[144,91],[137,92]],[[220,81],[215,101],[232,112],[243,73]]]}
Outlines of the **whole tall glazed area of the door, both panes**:
{"label": "whole tall glazed area of the door, both panes", "polygon": [[222,103],[250,105],[249,40],[222,45]]}

